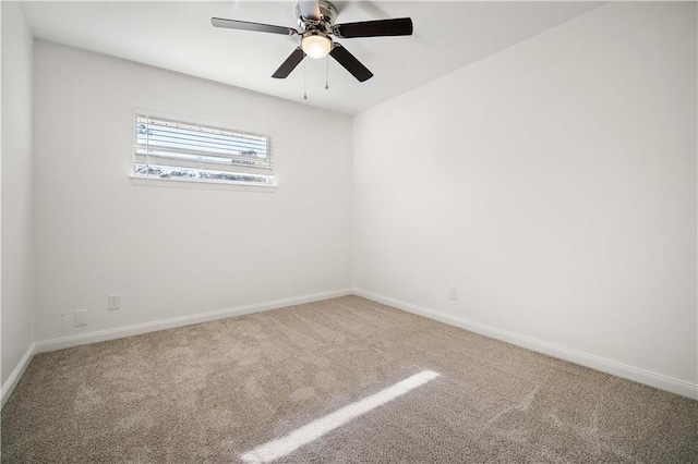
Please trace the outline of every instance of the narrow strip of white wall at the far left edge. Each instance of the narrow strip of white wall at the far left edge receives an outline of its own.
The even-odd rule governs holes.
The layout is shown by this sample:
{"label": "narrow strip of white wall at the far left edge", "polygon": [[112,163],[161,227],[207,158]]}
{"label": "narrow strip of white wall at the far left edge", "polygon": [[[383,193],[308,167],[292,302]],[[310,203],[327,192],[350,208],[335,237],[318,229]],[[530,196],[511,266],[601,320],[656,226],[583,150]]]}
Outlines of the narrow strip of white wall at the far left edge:
{"label": "narrow strip of white wall at the far left edge", "polygon": [[33,39],[16,2],[2,2],[2,384],[33,340]]}

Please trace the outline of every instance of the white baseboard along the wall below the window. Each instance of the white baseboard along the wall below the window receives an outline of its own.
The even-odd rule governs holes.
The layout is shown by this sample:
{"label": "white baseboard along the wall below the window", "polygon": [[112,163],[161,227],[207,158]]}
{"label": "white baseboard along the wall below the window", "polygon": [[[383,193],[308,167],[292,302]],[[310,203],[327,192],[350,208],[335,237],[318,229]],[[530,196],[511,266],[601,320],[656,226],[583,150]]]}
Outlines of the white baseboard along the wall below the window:
{"label": "white baseboard along the wall below the window", "polygon": [[[276,300],[273,302],[257,303],[248,306],[213,310],[208,313],[192,314],[188,316],[173,317],[171,319],[154,320],[151,322],[137,323],[134,326],[117,327],[113,329],[99,330],[95,332],[81,333],[79,335],[61,337],[58,339],[36,342],[36,352],[44,353],[56,350],[63,350],[71,346],[79,346],[88,343],[104,342],[107,340],[121,339],[124,337],[137,335],[141,333],[154,332],[156,330],[172,329],[174,327],[190,326],[193,323],[207,322],[210,320],[226,319],[228,317],[242,316],[245,314],[261,313],[269,309],[277,309],[285,306],[312,303],[321,300],[336,298],[338,296],[351,295],[351,289],[335,290],[332,292],[315,293],[312,295],[294,296],[291,298]],[[3,389],[4,394],[4,389]],[[3,396],[4,398],[4,396]]]}

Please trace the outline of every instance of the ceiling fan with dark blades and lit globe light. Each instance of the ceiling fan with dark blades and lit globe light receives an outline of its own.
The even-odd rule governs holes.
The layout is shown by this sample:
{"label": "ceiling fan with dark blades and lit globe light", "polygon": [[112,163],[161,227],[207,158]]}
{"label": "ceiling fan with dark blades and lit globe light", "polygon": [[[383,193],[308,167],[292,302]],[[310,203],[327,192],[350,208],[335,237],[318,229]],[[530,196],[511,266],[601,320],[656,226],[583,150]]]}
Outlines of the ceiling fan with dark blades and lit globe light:
{"label": "ceiling fan with dark blades and lit globe light", "polygon": [[272,75],[272,77],[275,78],[288,77],[291,71],[298,66],[306,54],[311,58],[324,58],[329,54],[359,82],[364,82],[373,77],[373,73],[361,64],[353,54],[349,53],[344,46],[334,41],[330,36],[345,39],[354,37],[412,35],[412,20],[409,17],[335,24],[337,10],[327,0],[298,2],[296,5],[296,16],[298,17],[300,30],[292,27],[226,20],[222,17],[212,17],[210,22],[215,27],[300,36],[300,45]]}

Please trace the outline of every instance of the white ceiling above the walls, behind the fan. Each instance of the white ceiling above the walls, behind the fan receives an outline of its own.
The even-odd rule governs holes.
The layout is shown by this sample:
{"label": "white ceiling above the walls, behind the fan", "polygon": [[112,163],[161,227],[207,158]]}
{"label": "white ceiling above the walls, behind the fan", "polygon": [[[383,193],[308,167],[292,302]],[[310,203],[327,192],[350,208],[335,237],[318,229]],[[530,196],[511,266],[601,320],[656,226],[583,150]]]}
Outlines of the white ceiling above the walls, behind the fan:
{"label": "white ceiling above the walls, behind the fan", "polygon": [[[38,38],[111,54],[344,113],[358,113],[598,7],[597,2],[336,1],[337,23],[410,16],[409,37],[340,40],[373,73],[357,82],[306,58],[274,71],[298,38],[215,28],[212,16],[297,27],[293,1],[24,2]],[[308,100],[303,100],[303,64]]]}

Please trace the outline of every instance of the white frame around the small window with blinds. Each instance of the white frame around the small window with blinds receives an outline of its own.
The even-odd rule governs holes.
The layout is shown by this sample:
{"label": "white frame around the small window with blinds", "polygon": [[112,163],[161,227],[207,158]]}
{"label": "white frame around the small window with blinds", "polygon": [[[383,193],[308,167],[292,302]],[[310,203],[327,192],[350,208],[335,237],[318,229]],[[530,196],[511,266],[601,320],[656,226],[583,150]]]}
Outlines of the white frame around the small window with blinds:
{"label": "white frame around the small window with blinds", "polygon": [[[169,155],[160,156],[160,159],[166,160],[165,164],[157,163],[157,155],[151,156],[153,154],[153,149],[149,146],[139,143],[139,119],[153,119],[157,122],[168,122],[172,124],[181,124],[182,127],[193,129],[200,127],[203,133],[212,134],[214,132],[220,132],[222,134],[236,134],[241,136],[251,136],[255,139],[264,138],[266,142],[266,155],[267,162],[260,162],[258,164],[243,166],[239,164],[236,161],[243,163],[243,157],[236,156],[234,154],[221,154],[216,156],[215,154],[209,152],[201,152],[195,149],[186,150],[178,147],[172,149]],[[160,125],[164,126],[164,125]],[[210,184],[217,186],[242,186],[244,190],[250,187],[261,187],[263,190],[267,190],[269,187],[275,188],[277,186],[276,175],[274,169],[274,135],[268,131],[248,131],[240,129],[228,127],[225,124],[212,123],[207,121],[196,120],[194,118],[168,114],[158,111],[147,110],[143,108],[133,108],[132,113],[132,134],[133,134],[133,160],[131,168],[131,179],[136,185],[166,185],[167,186],[186,186],[195,187],[196,185],[203,186],[203,184]],[[142,137],[141,137],[142,138]],[[157,148],[157,147],[155,147]],[[163,150],[167,151],[167,149]],[[163,152],[160,151],[160,152]],[[177,154],[182,154],[182,158],[180,161],[177,160]],[[194,160],[192,157],[200,156],[198,160]],[[189,157],[189,159],[186,159]],[[212,161],[203,161],[202,158],[208,158]],[[230,159],[230,164],[221,163],[221,160]],[[180,166],[181,164],[181,166]],[[145,167],[145,173],[137,172],[136,167]],[[216,169],[217,168],[217,169]],[[171,171],[189,171],[195,175],[195,178],[188,176],[160,176],[160,175],[151,175],[152,170],[154,169],[163,169],[163,170],[171,170]],[[210,175],[242,175],[256,178],[261,181],[244,181],[244,180],[226,180],[226,179],[215,179],[215,178],[202,178],[201,173],[210,173]],[[256,190],[256,188],[255,188]]]}

